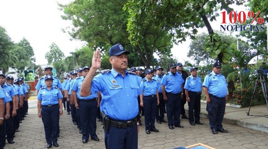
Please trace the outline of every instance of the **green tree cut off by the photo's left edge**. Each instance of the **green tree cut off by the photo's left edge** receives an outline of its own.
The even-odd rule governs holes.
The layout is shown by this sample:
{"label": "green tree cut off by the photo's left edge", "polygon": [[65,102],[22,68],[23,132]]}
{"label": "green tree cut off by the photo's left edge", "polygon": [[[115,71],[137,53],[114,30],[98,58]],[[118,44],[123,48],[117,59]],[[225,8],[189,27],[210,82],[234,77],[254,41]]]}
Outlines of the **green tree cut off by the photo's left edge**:
{"label": "green tree cut off by the photo's left edge", "polygon": [[11,50],[13,47],[14,43],[8,36],[6,29],[0,26],[0,70],[3,73],[6,73],[8,68],[14,65],[13,60],[17,60],[17,57]]}

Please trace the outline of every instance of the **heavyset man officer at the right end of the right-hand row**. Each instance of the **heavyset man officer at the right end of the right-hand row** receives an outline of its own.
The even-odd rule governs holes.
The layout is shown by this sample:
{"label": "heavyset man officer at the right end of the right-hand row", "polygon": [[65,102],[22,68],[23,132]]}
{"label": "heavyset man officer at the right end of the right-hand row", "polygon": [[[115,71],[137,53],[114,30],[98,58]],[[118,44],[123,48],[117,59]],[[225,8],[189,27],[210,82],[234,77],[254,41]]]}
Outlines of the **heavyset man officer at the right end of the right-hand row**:
{"label": "heavyset man officer at the right end of the right-hand row", "polygon": [[228,84],[225,77],[220,74],[221,63],[215,62],[212,67],[213,71],[206,75],[203,83],[204,93],[207,98],[207,108],[209,125],[213,134],[219,132],[227,133],[223,129],[223,116],[225,112],[225,104],[227,101]]}

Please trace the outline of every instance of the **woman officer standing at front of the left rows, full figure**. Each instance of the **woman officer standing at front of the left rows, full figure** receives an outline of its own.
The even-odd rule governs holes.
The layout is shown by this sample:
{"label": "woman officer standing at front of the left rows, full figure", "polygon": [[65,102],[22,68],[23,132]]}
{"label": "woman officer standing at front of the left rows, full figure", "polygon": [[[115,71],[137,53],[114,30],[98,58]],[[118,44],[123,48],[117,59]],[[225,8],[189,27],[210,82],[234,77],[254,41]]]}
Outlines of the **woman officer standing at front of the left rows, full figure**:
{"label": "woman officer standing at front of the left rows, full figure", "polygon": [[[52,87],[53,77],[45,76],[45,87],[42,87],[37,95],[38,117],[42,118],[47,148],[53,145],[59,147],[57,136],[59,131],[59,119],[62,115],[62,94],[58,87]],[[60,106],[60,110],[59,110]],[[42,109],[42,111],[41,111]]]}

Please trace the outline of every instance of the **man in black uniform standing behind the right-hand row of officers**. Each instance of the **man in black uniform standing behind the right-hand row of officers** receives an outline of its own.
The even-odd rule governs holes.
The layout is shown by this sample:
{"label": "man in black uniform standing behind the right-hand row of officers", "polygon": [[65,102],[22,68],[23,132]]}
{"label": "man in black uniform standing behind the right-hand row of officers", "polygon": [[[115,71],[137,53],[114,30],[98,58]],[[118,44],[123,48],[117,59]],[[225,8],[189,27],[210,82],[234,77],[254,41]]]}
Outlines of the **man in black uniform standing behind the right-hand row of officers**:
{"label": "man in black uniform standing behind the right-hand row of officers", "polygon": [[[184,84],[183,84],[183,86],[184,86],[185,85],[185,80],[188,77],[188,74],[187,74],[186,71],[183,70],[182,63],[177,63],[177,70],[182,75],[182,78],[184,80]],[[181,110],[180,110],[181,118],[182,119],[188,119],[188,117],[185,114],[185,109],[184,109],[184,105],[186,103],[185,91],[183,93],[181,93],[181,94],[183,94],[183,97],[181,98]]]}

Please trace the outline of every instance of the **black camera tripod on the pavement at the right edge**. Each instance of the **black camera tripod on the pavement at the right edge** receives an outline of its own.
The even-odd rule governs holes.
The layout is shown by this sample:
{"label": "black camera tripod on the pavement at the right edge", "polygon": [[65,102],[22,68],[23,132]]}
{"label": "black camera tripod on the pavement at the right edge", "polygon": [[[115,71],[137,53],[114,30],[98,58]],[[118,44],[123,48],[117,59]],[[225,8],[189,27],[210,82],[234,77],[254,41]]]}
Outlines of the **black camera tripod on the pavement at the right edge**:
{"label": "black camera tripod on the pavement at the right edge", "polygon": [[[267,109],[268,109],[267,88],[266,88],[266,83],[265,83],[265,79],[264,79],[264,75],[263,75],[263,70],[258,70],[257,72],[258,72],[258,77],[257,77],[256,83],[255,83],[255,88],[254,88],[252,97],[251,97],[250,106],[249,106],[248,112],[246,112],[246,113],[247,113],[248,116],[263,116],[263,117],[266,117],[268,115],[249,115],[249,111],[250,111],[250,108],[251,108],[252,100],[253,100],[253,97],[254,97],[254,94],[255,94],[255,91],[256,91],[256,88],[257,88],[259,78],[261,79],[262,92],[264,94],[264,98],[266,100],[266,105],[267,105]],[[268,118],[268,117],[266,117],[266,118]]]}

